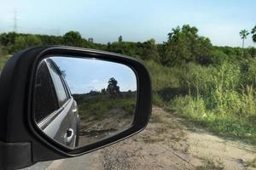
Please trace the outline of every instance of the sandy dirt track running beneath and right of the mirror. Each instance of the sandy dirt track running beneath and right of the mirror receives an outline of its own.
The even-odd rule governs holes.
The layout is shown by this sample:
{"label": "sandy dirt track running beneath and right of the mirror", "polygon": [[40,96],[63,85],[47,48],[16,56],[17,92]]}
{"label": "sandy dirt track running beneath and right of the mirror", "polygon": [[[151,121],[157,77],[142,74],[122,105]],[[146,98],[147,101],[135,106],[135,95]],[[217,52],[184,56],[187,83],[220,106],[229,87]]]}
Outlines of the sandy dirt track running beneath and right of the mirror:
{"label": "sandy dirt track running beneath and right of the mirror", "polygon": [[85,156],[53,161],[46,169],[256,169],[254,158],[255,146],[191,130],[183,119],[154,107],[142,133]]}

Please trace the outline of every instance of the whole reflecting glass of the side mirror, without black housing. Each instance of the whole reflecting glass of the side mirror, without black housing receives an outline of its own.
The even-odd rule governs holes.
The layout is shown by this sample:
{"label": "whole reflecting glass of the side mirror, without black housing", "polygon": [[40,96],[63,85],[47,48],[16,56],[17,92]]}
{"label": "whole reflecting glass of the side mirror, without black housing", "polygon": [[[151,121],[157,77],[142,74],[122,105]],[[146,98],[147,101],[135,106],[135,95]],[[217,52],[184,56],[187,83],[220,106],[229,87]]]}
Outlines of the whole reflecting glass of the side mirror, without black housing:
{"label": "whole reflecting glass of the side mirror, without black housing", "polygon": [[34,87],[34,121],[68,148],[109,138],[134,120],[137,77],[126,65],[50,56],[39,63]]}

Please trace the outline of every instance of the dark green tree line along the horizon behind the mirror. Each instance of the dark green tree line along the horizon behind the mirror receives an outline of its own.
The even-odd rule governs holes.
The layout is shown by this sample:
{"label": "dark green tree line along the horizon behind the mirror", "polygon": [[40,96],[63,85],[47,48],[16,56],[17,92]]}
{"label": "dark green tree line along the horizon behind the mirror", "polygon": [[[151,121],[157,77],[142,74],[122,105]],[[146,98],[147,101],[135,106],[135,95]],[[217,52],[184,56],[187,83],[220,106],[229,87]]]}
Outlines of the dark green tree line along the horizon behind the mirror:
{"label": "dark green tree line along the horizon behind the mirror", "polygon": [[[252,29],[256,39],[256,26]],[[240,32],[242,42],[248,31]],[[140,59],[153,59],[161,65],[174,66],[194,62],[200,65],[218,65],[224,60],[247,60],[256,56],[255,48],[215,47],[209,38],[201,37],[195,26],[184,25],[173,28],[166,42],[156,43],[154,38],[145,42],[125,42],[122,36],[116,42],[107,44],[93,42],[84,38],[78,31],[68,31],[63,36],[32,35],[15,32],[0,34],[1,53],[14,54],[24,48],[39,45],[67,45],[81,48],[96,48],[119,54],[127,54]]]}

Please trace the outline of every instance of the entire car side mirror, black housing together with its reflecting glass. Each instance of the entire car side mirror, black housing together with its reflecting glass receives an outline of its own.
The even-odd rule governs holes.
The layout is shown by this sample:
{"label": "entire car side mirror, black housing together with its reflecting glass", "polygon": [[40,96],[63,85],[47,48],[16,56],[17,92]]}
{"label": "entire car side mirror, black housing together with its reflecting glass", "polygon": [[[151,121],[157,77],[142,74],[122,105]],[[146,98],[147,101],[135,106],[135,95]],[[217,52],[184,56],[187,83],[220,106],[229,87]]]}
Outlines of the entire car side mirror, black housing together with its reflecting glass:
{"label": "entire car side mirror, black housing together with its reflecting glass", "polygon": [[0,168],[80,156],[143,130],[151,82],[137,59],[47,46],[15,54],[0,77]]}

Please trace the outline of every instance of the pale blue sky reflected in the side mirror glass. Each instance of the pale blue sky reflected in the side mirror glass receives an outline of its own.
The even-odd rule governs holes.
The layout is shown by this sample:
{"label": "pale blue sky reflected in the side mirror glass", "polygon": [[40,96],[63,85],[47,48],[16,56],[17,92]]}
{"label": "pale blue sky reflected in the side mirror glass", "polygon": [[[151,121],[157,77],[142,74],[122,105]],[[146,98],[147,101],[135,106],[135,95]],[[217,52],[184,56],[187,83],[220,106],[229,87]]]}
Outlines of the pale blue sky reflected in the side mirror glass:
{"label": "pale blue sky reflected in the side mirror glass", "polygon": [[118,63],[68,57],[52,57],[66,73],[66,81],[72,94],[84,94],[90,90],[100,91],[108,87],[108,80],[114,77],[120,91],[137,90],[137,78],[130,67]]}

